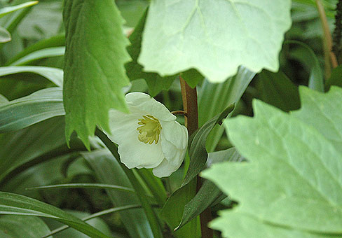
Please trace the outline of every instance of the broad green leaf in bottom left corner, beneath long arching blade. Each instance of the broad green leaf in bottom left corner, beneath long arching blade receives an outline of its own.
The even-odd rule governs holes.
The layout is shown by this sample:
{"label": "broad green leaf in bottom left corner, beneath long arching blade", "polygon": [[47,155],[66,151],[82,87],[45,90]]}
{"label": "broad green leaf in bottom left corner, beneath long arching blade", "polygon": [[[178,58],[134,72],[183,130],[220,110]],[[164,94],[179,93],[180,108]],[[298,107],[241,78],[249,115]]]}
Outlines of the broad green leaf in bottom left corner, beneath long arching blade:
{"label": "broad green leaf in bottom left corner, beneath long arching blade", "polygon": [[[48,226],[40,218],[13,215],[0,217],[0,230],[5,231],[8,238],[36,238],[50,232]],[[0,235],[0,237],[3,236]]]}

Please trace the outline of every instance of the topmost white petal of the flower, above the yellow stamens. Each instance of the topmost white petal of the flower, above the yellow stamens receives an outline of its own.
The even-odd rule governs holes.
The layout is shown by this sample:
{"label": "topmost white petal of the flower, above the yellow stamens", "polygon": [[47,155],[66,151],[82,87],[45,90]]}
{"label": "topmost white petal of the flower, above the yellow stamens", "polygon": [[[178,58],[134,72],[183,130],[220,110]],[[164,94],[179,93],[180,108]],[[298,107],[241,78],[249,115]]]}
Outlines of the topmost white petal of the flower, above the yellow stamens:
{"label": "topmost white petal of the flower, above the yellow stamens", "polygon": [[158,120],[176,120],[176,116],[170,113],[170,111],[160,102],[142,92],[130,92],[126,94],[126,102],[128,105],[134,105],[139,110],[146,112]]}

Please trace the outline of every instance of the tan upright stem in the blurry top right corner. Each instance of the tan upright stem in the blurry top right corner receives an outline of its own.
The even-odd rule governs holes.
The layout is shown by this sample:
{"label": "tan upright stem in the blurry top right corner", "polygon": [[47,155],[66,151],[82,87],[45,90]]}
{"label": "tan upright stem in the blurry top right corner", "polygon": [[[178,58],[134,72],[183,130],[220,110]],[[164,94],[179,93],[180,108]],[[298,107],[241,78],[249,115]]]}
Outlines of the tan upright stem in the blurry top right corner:
{"label": "tan upright stem in the blurry top right corner", "polygon": [[327,78],[330,78],[331,67],[335,69],[338,66],[336,55],[332,52],[332,37],[327,21],[327,15],[325,14],[324,7],[321,0],[316,0],[316,6],[318,13],[320,13],[320,20],[323,28],[323,45],[324,45],[324,56],[325,56],[325,71]]}

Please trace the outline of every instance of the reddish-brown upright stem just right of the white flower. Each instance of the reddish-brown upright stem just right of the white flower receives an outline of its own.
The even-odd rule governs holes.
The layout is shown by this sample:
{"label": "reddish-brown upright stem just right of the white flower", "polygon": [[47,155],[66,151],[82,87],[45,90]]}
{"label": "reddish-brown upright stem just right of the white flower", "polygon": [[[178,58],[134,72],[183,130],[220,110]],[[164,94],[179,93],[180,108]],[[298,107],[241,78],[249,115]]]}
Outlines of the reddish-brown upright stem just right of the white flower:
{"label": "reddish-brown upright stem just right of the white flower", "polygon": [[[197,91],[196,87],[191,88],[182,77],[179,77],[179,79],[181,81],[183,107],[186,113],[185,126],[188,128],[189,136],[191,136],[198,129]],[[202,183],[202,178],[197,176],[197,192],[200,190]],[[200,214],[200,232],[202,238],[212,238],[214,236],[213,230],[207,227],[207,223],[211,220],[211,211],[210,208],[207,208]]]}

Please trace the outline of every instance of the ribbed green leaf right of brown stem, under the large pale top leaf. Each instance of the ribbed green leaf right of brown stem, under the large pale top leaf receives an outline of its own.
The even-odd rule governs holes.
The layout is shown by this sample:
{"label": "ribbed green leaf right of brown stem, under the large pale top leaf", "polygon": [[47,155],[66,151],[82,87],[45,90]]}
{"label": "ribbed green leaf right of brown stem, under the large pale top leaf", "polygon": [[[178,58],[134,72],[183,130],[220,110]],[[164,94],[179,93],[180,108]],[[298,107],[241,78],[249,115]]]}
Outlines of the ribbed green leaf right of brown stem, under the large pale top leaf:
{"label": "ribbed green leaf right of brown stem, under the large pale top leaf", "polygon": [[[198,90],[198,123],[202,126],[207,120],[224,111],[227,106],[240,101],[242,94],[256,73],[240,66],[238,73],[224,83],[210,83],[208,80]],[[214,151],[224,134],[224,127],[214,128],[207,138],[207,150]]]}

